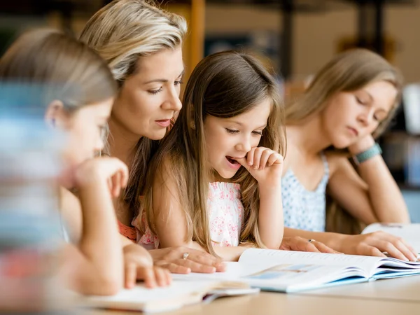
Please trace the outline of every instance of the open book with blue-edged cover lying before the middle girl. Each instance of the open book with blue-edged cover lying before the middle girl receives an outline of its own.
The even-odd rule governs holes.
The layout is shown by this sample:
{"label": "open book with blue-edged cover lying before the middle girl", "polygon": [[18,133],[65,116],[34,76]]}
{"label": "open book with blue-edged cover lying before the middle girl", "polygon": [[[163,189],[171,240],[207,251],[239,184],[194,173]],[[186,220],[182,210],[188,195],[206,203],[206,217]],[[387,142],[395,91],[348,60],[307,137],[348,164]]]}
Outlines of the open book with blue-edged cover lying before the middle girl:
{"label": "open book with blue-edged cover lying before the middle girl", "polygon": [[420,274],[420,262],[361,255],[249,248],[227,272],[174,274],[174,279],[244,281],[261,290],[296,292]]}

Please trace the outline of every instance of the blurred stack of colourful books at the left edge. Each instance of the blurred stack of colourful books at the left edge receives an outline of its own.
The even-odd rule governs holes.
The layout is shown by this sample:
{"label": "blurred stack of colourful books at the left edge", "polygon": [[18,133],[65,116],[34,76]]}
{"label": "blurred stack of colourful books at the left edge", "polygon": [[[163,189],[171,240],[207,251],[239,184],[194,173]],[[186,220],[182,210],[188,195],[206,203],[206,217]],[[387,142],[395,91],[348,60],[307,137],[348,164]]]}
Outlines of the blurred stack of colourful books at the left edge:
{"label": "blurred stack of colourful books at the left edge", "polygon": [[64,290],[55,277],[63,239],[57,188],[62,140],[39,117],[25,116],[23,108],[22,115],[4,111],[1,103],[0,311],[62,310]]}

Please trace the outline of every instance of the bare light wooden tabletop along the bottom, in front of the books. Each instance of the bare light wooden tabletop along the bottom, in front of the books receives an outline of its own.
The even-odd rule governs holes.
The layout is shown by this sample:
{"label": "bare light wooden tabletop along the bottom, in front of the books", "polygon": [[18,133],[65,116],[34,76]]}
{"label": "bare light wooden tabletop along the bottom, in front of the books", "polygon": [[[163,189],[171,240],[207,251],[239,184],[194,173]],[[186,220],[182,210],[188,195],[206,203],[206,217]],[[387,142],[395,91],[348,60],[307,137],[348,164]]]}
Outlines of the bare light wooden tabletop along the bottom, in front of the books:
{"label": "bare light wooden tabletop along the bottom, in front of the books", "polygon": [[[91,315],[128,315],[125,311],[92,311]],[[169,315],[402,315],[420,314],[420,276],[337,286],[304,293],[262,292],[227,297],[210,304],[184,307]]]}

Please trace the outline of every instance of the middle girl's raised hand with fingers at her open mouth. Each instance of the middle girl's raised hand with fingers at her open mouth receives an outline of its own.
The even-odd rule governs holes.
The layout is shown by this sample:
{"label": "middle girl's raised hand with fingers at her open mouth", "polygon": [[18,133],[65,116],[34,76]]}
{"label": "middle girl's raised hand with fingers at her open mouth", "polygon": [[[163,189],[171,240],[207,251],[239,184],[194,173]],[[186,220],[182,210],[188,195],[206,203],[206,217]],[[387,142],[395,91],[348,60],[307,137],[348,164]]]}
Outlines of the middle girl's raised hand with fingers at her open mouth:
{"label": "middle girl's raised hand with fingers at her open mouth", "polygon": [[283,156],[262,146],[252,148],[246,158],[235,159],[258,181],[267,188],[281,184]]}

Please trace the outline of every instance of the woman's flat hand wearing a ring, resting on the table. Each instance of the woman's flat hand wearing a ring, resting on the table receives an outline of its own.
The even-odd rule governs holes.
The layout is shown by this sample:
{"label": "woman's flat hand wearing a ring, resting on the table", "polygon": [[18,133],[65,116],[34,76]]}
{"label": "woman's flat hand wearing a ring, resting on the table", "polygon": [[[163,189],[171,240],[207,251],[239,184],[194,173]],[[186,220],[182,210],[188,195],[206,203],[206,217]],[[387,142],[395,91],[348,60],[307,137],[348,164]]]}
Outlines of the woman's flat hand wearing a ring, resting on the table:
{"label": "woman's flat hand wearing a ring, resting on the table", "polygon": [[[169,269],[174,274],[190,272],[213,273],[224,272],[225,264],[218,258],[197,249],[184,246],[153,249],[149,251],[155,265]],[[183,259],[183,254],[188,257]]]}

